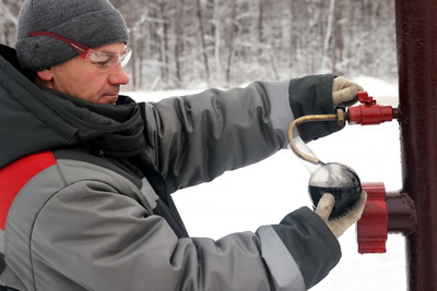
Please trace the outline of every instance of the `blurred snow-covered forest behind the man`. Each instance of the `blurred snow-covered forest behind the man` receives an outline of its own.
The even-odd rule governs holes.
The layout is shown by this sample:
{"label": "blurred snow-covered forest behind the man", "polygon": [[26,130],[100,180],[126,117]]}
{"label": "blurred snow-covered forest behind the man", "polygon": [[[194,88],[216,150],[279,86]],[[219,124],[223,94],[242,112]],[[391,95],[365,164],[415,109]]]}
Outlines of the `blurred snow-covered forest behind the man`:
{"label": "blurred snow-covered forest behind the man", "polygon": [[[110,0],[129,27],[128,89],[229,87],[306,74],[394,81],[394,1]],[[23,0],[0,0],[14,47]]]}

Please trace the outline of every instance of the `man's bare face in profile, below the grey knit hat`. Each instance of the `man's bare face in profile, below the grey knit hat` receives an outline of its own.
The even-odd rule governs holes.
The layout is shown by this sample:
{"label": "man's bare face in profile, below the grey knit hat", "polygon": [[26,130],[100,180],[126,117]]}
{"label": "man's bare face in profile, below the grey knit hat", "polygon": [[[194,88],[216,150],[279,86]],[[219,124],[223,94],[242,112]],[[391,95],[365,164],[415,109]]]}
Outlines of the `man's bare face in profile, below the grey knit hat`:
{"label": "man's bare face in profile, below the grey knit hat", "polygon": [[[123,43],[110,44],[95,50],[107,53],[125,53]],[[129,83],[129,77],[120,64],[109,72],[97,70],[96,65],[75,57],[64,63],[37,73],[37,84],[87,100],[92,104],[115,105],[120,85]]]}

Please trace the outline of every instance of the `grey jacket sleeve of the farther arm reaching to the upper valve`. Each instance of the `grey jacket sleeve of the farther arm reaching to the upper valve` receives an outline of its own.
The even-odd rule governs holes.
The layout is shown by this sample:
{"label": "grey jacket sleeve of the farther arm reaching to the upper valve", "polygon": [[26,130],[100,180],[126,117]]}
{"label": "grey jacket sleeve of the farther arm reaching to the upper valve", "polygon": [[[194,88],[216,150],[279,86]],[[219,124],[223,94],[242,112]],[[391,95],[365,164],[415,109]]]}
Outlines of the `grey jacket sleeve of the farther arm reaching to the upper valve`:
{"label": "grey jacket sleeve of the farther arm reaching to the upper valve", "polygon": [[[333,113],[332,75],[255,82],[245,88],[203,93],[142,105],[146,154],[170,193],[257,162],[288,145],[296,117]],[[339,130],[299,128],[305,141]]]}

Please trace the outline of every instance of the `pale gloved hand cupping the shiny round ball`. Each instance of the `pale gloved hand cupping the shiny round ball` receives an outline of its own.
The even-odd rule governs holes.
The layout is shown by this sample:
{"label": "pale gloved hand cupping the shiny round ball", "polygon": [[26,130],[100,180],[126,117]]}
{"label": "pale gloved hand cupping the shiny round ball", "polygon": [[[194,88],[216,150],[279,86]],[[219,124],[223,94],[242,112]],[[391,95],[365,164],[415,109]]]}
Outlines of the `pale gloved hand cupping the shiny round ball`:
{"label": "pale gloved hand cupping the shiny round ball", "polygon": [[366,201],[367,193],[363,191],[359,201],[356,203],[355,208],[352,211],[338,219],[329,220],[329,215],[332,211],[335,198],[332,196],[332,194],[326,193],[320,198],[315,213],[324,221],[324,223],[328,225],[334,237],[340,238],[340,235],[342,235],[349,227],[359,220],[366,205]]}

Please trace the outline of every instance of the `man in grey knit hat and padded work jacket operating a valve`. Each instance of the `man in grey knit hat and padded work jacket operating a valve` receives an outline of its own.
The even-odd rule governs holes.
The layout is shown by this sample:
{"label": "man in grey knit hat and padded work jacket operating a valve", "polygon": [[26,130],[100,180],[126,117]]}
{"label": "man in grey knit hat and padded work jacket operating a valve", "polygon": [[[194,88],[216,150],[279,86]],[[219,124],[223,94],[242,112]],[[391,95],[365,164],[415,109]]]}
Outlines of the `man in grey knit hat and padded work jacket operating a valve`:
{"label": "man in grey knit hat and padded work jacket operating a valve", "polygon": [[[306,290],[339,262],[333,196],[275,226],[190,238],[169,194],[287,146],[294,118],[362,89],[332,75],[137,104],[107,0],[26,0],[0,58],[0,284],[16,290]],[[29,76],[31,80],[25,76]],[[333,94],[334,92],[334,94]],[[311,141],[340,128],[303,124]],[[232,203],[232,202],[229,202]],[[261,215],[261,211],[260,211]]]}

